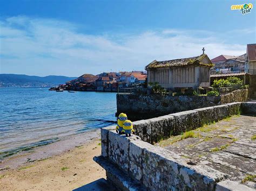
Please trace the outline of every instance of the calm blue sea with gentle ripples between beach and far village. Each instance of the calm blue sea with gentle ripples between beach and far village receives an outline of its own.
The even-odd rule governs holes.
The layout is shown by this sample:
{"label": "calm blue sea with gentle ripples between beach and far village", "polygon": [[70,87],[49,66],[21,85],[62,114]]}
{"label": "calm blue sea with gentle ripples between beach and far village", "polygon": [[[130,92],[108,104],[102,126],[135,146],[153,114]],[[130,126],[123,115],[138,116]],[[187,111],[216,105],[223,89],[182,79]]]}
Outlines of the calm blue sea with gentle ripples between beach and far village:
{"label": "calm blue sea with gentle ripples between beach and far village", "polygon": [[116,93],[0,88],[0,97],[0,159],[116,121]]}

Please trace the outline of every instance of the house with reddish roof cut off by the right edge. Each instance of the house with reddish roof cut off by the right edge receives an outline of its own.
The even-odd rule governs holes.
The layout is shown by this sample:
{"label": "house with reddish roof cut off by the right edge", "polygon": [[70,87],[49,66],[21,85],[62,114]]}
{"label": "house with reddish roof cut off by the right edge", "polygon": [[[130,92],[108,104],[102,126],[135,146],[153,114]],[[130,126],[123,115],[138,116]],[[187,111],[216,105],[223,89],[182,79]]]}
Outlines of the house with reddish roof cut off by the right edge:
{"label": "house with reddish roof cut off by the right edge", "polygon": [[247,45],[246,72],[250,74],[256,74],[256,44]]}

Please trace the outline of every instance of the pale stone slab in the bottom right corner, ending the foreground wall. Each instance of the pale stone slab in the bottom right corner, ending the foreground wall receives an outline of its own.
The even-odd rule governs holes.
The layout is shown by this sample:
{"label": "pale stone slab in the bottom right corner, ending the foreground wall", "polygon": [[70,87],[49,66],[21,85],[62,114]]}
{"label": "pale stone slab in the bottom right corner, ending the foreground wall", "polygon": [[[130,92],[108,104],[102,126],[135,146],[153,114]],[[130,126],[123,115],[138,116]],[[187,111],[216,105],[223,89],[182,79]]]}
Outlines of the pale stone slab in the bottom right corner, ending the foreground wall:
{"label": "pale stone slab in the bottom right corner, ending the foreground wall", "polygon": [[253,191],[255,189],[249,188],[241,183],[234,182],[231,180],[225,180],[218,182],[216,185],[216,191]]}

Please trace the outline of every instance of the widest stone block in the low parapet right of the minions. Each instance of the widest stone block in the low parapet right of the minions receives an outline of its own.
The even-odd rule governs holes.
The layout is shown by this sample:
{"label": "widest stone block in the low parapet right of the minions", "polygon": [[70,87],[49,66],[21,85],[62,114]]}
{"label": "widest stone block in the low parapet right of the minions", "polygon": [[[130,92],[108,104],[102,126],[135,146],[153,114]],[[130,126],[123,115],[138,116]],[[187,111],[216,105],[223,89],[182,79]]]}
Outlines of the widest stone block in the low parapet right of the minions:
{"label": "widest stone block in the low parapet right of the minions", "polygon": [[181,132],[190,131],[200,126],[198,111],[189,110],[170,115],[174,116],[176,123],[173,135],[180,135]]}

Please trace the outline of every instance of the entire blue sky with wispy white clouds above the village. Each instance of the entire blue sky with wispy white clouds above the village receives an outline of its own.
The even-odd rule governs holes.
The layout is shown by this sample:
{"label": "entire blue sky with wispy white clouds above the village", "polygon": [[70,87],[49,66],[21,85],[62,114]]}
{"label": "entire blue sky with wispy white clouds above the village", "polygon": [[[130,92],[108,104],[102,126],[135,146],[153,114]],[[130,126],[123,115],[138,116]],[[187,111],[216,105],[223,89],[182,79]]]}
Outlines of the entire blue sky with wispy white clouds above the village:
{"label": "entire blue sky with wispy white clouds above the village", "polygon": [[[242,15],[231,5],[252,3]],[[80,76],[153,60],[241,55],[256,1],[0,0],[0,73]]]}

